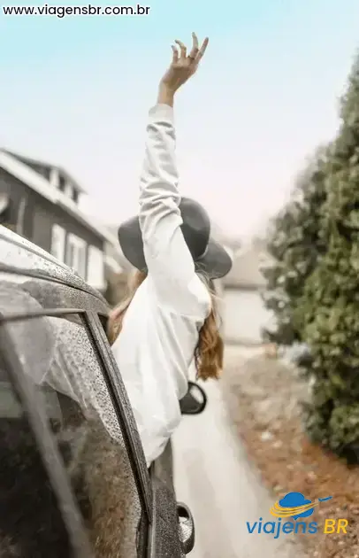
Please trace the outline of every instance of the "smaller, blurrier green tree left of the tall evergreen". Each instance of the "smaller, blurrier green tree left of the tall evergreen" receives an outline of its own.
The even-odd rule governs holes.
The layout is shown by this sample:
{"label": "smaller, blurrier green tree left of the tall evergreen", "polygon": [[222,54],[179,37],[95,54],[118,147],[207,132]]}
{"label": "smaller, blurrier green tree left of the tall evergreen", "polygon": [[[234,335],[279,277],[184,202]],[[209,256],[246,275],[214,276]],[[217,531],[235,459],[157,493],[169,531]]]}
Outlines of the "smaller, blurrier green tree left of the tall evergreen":
{"label": "smaller, blurrier green tree left of the tall evergreen", "polygon": [[326,196],[325,166],[326,149],[320,148],[269,229],[267,252],[271,264],[263,269],[267,281],[264,302],[274,313],[276,325],[275,329],[264,331],[264,337],[279,345],[302,340],[294,322],[295,310],[307,278],[325,252],[319,224]]}

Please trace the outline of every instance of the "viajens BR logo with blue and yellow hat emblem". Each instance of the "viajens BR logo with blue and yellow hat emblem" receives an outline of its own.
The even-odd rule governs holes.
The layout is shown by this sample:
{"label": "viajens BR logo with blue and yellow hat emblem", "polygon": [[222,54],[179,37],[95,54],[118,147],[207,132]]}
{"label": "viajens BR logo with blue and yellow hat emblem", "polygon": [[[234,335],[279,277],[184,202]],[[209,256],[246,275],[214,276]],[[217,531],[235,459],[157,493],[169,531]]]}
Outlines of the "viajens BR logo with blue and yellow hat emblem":
{"label": "viajens BR logo with blue and yellow hat emblem", "polygon": [[301,492],[288,492],[281,500],[275,502],[270,509],[270,514],[275,518],[275,521],[264,522],[263,517],[260,517],[255,523],[247,522],[248,533],[251,535],[273,535],[274,539],[279,539],[281,534],[289,535],[299,532],[309,535],[318,531],[326,535],[335,532],[347,534],[347,519],[327,517],[321,524],[316,521],[308,521],[315,509],[328,500],[332,500],[332,496],[318,498],[317,501],[313,502],[306,499]]}

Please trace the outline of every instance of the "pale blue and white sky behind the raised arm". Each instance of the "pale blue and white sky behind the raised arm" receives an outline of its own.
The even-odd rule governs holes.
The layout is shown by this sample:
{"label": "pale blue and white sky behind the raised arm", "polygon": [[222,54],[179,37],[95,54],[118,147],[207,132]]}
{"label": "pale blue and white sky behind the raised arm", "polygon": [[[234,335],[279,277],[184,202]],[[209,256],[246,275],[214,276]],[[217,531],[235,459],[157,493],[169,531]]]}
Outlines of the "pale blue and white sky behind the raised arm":
{"label": "pale blue and white sky behind the raised arm", "polygon": [[0,146],[65,167],[88,191],[84,210],[119,224],[137,211],[147,113],[171,44],[208,35],[175,100],[180,191],[226,234],[262,232],[339,126],[359,2],[147,2],[148,16],[0,12]]}

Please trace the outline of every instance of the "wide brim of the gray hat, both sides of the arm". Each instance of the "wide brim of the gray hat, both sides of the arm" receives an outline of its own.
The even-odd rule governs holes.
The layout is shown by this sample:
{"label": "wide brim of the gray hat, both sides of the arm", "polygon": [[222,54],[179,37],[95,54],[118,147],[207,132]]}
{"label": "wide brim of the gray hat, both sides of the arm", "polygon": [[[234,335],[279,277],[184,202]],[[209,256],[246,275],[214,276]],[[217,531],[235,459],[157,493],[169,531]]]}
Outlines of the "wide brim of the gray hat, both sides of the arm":
{"label": "wide brim of the gray hat, both sides of the arm", "polygon": [[[143,253],[143,243],[138,217],[133,217],[123,223],[118,229],[118,242],[126,260],[141,271],[147,270]],[[195,267],[208,275],[210,279],[220,279],[227,275],[232,268],[232,258],[225,248],[213,238],[207,250],[199,260],[195,260]]]}

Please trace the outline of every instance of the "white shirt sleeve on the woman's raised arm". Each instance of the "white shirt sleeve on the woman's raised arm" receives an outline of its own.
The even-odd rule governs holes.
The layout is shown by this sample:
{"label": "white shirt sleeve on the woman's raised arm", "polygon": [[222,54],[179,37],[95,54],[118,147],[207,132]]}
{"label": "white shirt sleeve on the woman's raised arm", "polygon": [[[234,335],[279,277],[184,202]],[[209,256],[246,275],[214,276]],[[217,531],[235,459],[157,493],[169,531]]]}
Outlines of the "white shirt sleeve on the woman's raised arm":
{"label": "white shirt sleeve on the woman's raised arm", "polygon": [[173,109],[149,112],[145,160],[140,182],[140,227],[149,281],[159,304],[181,314],[209,311],[206,290],[182,234],[179,175],[175,156]]}

